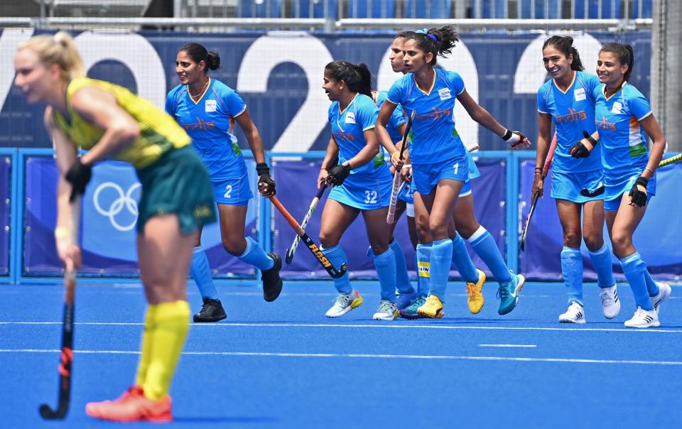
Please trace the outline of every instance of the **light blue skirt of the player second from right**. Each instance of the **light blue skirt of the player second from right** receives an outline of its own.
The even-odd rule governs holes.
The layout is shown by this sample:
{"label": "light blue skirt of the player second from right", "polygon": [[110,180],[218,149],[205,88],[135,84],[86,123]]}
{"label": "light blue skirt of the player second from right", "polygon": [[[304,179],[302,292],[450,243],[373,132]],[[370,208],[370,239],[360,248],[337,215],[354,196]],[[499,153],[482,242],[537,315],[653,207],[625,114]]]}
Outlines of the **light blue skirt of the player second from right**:
{"label": "light blue skirt of the player second from right", "polygon": [[583,173],[552,171],[551,197],[556,200],[583,202],[603,200],[605,196],[602,170]]}

